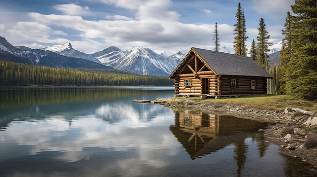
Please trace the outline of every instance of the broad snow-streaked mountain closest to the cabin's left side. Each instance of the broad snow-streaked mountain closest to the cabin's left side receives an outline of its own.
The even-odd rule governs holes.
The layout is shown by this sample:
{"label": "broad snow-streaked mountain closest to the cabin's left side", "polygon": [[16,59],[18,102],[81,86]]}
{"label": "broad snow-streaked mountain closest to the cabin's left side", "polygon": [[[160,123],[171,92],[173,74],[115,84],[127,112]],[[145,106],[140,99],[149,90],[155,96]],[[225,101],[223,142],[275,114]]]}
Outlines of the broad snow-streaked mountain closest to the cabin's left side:
{"label": "broad snow-streaked mountain closest to the cabin's left side", "polygon": [[180,59],[160,55],[149,48],[136,47],[123,57],[106,62],[106,65],[138,74],[169,76],[180,62]]}

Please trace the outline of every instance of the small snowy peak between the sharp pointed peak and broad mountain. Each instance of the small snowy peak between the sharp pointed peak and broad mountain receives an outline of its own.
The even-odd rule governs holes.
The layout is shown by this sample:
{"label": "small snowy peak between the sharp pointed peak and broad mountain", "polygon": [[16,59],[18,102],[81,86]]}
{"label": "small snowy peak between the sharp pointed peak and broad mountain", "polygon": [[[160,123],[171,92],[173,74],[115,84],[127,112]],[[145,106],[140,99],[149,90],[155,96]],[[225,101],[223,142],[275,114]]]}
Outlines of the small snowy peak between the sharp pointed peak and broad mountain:
{"label": "small snowy peak between the sharp pointed peak and broad mountain", "polygon": [[124,56],[128,51],[122,51],[118,47],[111,46],[102,51],[94,52],[95,58],[97,58],[101,63],[106,63],[110,60],[115,60]]}

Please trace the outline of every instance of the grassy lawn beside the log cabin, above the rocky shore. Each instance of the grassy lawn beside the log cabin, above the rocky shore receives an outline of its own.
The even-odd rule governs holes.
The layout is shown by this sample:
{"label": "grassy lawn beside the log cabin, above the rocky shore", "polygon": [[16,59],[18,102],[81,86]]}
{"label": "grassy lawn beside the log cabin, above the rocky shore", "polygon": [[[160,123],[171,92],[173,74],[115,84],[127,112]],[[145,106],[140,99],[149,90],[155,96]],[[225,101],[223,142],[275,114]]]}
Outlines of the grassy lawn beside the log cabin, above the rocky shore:
{"label": "grassy lawn beside the log cabin, above the rocky shore", "polygon": [[[194,98],[189,98],[194,99]],[[196,98],[197,99],[197,98]],[[317,112],[317,101],[308,101],[299,99],[290,95],[250,95],[243,97],[233,98],[218,98],[218,99],[206,99],[202,102],[221,102],[221,103],[232,103],[236,105],[248,105],[257,108],[264,108],[266,110],[284,110],[285,108],[300,108]]]}

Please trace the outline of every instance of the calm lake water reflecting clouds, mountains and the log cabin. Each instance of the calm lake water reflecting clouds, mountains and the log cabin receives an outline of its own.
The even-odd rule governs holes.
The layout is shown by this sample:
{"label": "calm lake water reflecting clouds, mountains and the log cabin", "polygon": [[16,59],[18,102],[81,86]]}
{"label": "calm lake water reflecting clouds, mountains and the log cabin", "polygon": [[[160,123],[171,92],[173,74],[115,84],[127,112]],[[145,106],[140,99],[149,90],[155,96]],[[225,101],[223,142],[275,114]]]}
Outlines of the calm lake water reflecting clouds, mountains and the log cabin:
{"label": "calm lake water reflecting clouds, mountains and the log cabin", "polygon": [[298,177],[271,123],[133,104],[173,87],[0,88],[0,177]]}

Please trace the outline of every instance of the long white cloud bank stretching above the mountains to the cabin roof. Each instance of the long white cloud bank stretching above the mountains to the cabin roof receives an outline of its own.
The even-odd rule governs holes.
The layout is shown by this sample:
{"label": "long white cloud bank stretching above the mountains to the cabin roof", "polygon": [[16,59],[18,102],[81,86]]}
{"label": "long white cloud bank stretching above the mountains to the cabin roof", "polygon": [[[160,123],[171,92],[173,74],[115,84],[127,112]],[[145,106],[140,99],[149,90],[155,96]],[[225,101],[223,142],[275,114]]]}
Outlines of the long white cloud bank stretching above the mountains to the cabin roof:
{"label": "long white cloud bank stretching above the mountains to the cabin roof", "polygon": [[[214,25],[184,24],[173,20],[142,19],[129,21],[88,21],[80,16],[42,15],[29,13],[39,23],[71,28],[81,32],[84,38],[103,38],[115,46],[146,46],[154,50],[175,50],[192,46],[206,48],[212,45]],[[233,27],[218,24],[222,42],[233,38]],[[117,45],[118,44],[118,45]],[[175,49],[172,49],[174,47]],[[176,49],[178,48],[178,49]],[[166,51],[169,53],[170,51]]]}

